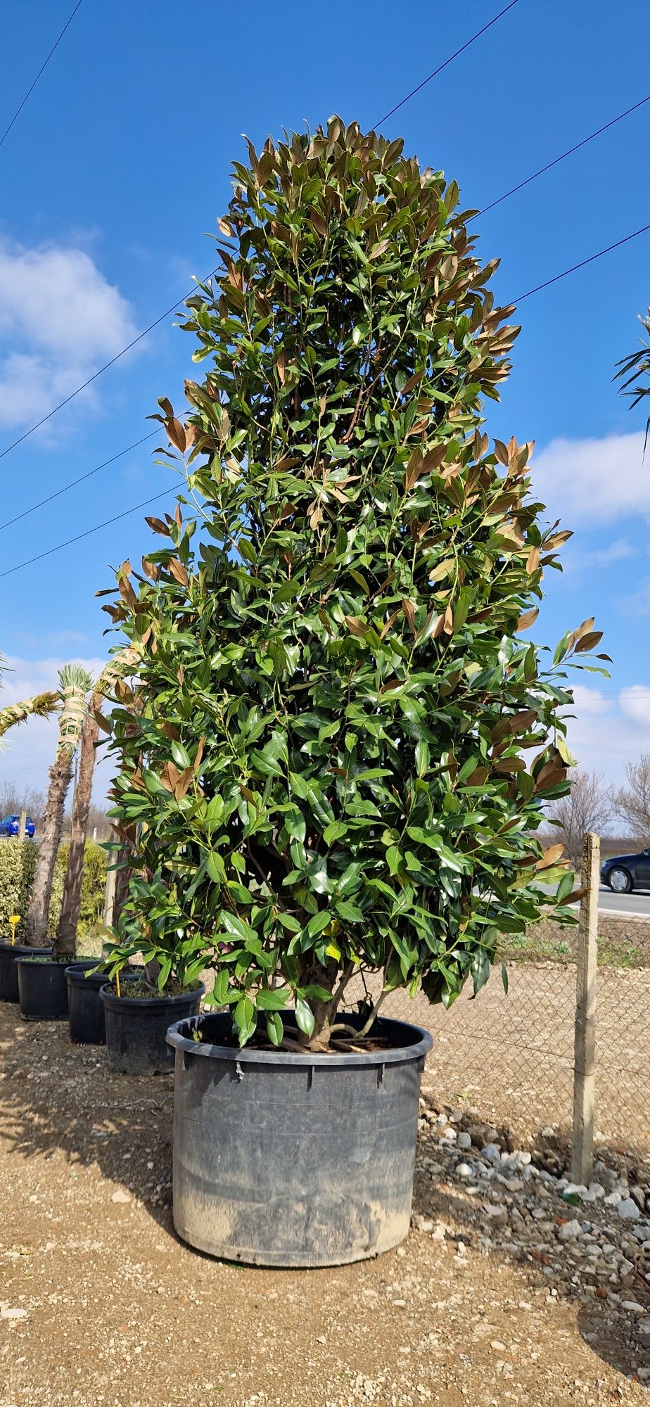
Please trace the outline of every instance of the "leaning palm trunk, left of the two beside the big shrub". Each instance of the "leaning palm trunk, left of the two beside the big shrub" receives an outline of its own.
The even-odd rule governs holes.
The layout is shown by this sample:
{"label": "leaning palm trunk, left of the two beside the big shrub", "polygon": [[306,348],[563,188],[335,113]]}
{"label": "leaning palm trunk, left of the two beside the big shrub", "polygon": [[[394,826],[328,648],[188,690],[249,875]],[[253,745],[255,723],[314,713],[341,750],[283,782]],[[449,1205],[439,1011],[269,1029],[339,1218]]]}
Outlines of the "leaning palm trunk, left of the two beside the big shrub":
{"label": "leaning palm trunk, left of the two beside the big shrub", "polygon": [[80,664],[66,664],[59,671],[59,692],[56,695],[60,702],[59,736],[55,760],[49,768],[48,801],[25,922],[25,943],[30,947],[38,948],[46,944],[56,851],[63,829],[63,808],[72,779],[72,760],[83,732],[86,695],[91,684],[90,674]]}

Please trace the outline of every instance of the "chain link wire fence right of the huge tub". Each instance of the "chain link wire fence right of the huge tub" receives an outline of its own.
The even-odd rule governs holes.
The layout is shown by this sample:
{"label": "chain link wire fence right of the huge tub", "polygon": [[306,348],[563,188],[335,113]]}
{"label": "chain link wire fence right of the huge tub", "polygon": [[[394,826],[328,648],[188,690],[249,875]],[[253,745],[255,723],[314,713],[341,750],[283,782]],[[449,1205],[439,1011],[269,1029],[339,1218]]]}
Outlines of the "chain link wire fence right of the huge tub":
{"label": "chain link wire fence right of the huge tub", "polygon": [[[573,930],[544,929],[529,953],[518,948],[514,961],[504,954],[508,993],[495,969],[476,999],[466,989],[449,1012],[402,991],[383,1005],[383,1014],[432,1033],[426,1082],[440,1106],[506,1127],[519,1144],[550,1135],[571,1141],[574,938]],[[595,1142],[650,1154],[650,919],[602,919],[599,930]],[[540,948],[553,955],[540,960]]]}

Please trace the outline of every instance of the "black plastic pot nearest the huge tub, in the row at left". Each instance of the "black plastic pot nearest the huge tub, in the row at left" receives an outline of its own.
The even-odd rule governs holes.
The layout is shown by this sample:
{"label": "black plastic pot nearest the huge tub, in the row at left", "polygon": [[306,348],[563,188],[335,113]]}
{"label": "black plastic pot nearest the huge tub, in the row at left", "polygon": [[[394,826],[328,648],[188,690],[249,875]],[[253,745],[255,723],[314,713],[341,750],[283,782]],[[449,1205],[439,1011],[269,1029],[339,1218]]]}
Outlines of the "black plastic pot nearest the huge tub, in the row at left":
{"label": "black plastic pot nearest the huge tub, in the row at left", "polygon": [[106,1020],[106,1055],[115,1075],[169,1075],[173,1052],[166,1043],[169,1027],[197,1016],[205,988],[180,996],[117,996],[100,988]]}

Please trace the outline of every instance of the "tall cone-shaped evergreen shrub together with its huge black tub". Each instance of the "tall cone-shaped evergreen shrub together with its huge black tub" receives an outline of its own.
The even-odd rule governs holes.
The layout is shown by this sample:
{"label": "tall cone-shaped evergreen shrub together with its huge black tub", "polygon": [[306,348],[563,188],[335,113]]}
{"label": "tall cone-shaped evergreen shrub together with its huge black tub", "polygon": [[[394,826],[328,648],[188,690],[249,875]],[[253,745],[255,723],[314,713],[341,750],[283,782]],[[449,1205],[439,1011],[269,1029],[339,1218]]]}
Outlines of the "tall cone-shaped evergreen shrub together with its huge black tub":
{"label": "tall cone-shaped evergreen shrub together with its huge black tub", "polygon": [[214,975],[167,1037],[179,1234],[326,1265],[408,1228],[431,1037],[387,996],[449,1006],[499,933],[570,917],[535,832],[599,635],[544,668],[523,633],[568,535],[532,446],[483,429],[518,329],[456,184],[339,118],[234,172],[187,304],[204,376],[186,421],[159,402],[186,487],[106,608],[142,651],[111,713],[115,961]]}

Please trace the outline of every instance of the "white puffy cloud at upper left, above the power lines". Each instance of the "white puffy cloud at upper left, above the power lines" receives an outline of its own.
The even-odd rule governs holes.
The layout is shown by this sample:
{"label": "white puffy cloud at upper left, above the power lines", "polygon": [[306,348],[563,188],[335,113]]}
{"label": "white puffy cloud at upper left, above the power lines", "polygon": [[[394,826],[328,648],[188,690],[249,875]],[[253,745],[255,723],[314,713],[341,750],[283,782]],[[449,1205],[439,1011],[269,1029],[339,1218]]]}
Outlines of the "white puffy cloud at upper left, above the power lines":
{"label": "white puffy cloud at upper left, above the power lines", "polygon": [[0,425],[46,414],[134,335],[129,304],[84,250],[0,243]]}

